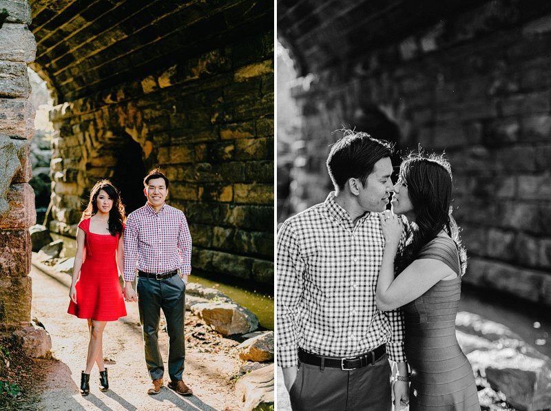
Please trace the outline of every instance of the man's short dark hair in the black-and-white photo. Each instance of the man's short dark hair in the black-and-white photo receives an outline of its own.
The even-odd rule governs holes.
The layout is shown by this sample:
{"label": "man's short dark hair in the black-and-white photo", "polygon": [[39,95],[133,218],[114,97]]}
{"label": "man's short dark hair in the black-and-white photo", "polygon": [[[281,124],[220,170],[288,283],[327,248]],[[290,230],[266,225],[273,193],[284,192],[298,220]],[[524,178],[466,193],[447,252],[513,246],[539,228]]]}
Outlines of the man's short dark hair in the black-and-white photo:
{"label": "man's short dark hair in the black-and-white photo", "polygon": [[359,179],[363,185],[373,172],[375,162],[390,157],[393,146],[385,140],[377,140],[362,131],[335,130],[333,135],[342,135],[333,144],[327,157],[327,170],[335,190],[344,189],[350,178]]}

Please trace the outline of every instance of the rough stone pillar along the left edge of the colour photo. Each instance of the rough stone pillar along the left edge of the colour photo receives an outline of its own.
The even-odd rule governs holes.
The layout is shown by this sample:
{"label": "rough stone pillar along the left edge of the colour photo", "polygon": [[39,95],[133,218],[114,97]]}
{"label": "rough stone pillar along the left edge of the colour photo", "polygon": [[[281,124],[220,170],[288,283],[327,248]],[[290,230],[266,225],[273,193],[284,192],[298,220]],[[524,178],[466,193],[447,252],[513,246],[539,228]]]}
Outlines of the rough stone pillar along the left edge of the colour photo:
{"label": "rough stone pillar along the left edge of the colour photo", "polygon": [[30,234],[36,219],[30,141],[34,109],[27,65],[36,52],[27,1],[0,1],[0,331],[30,325]]}

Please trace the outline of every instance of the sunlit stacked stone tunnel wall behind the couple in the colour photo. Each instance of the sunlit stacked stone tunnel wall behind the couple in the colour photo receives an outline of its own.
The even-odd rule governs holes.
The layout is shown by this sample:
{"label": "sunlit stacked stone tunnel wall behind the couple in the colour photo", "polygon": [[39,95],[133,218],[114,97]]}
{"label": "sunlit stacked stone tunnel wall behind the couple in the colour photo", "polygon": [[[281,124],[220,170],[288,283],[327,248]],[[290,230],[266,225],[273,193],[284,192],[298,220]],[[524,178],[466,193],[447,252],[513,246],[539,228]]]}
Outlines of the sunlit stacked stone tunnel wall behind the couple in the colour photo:
{"label": "sunlit stacked stone tunnel wall behind the couple in the colour photo", "polygon": [[194,269],[272,284],[273,95],[266,30],[57,106],[50,230],[75,235],[90,188],[133,140],[136,161],[170,179]]}

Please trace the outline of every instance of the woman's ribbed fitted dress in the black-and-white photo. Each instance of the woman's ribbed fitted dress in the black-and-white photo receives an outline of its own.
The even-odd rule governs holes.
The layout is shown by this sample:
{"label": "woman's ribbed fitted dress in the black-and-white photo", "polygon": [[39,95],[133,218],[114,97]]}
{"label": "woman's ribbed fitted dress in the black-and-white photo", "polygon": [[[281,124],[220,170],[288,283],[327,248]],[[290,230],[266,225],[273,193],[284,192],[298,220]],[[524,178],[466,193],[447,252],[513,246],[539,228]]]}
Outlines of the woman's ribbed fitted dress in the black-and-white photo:
{"label": "woman's ribbed fitted dress in the black-and-white photo", "polygon": [[432,258],[457,273],[442,280],[404,309],[405,350],[411,367],[410,411],[480,410],[475,377],[455,337],[461,269],[455,242],[439,236],[417,259]]}

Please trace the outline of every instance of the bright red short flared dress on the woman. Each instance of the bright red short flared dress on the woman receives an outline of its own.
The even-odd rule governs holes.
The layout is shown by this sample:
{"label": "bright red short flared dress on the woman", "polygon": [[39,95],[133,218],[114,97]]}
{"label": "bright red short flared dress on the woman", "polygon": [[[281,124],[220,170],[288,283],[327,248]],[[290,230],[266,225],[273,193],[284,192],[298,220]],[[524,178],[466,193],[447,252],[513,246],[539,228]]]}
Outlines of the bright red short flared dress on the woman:
{"label": "bright red short flared dress on the woman", "polygon": [[76,282],[76,304],[67,313],[96,321],[116,321],[125,317],[126,306],[116,268],[119,235],[90,233],[90,219],[82,220],[85,232],[81,276]]}

